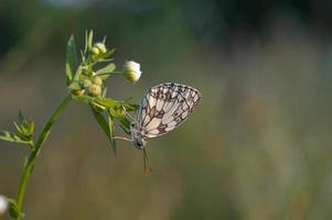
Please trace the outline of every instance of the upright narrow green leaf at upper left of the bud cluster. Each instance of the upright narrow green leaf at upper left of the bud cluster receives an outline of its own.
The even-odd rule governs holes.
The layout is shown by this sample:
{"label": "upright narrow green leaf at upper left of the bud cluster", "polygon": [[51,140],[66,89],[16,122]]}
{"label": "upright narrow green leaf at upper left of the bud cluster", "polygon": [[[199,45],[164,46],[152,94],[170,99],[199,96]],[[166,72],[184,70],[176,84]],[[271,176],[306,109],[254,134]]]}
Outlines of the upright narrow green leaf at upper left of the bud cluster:
{"label": "upright narrow green leaf at upper left of the bud cluster", "polygon": [[66,82],[69,85],[78,68],[78,59],[74,36],[72,35],[66,50]]}

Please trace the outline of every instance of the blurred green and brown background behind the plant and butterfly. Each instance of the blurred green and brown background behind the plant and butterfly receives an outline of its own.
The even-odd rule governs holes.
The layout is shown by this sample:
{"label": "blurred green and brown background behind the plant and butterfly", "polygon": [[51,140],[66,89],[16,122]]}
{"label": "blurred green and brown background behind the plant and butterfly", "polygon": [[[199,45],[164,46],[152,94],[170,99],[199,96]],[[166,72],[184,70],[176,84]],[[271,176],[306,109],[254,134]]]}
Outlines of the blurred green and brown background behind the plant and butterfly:
{"label": "blurred green and brown background behind the plant and butterfly", "polygon": [[[141,63],[133,97],[163,81],[203,99],[151,140],[153,170],[117,157],[87,106],[61,116],[29,184],[26,220],[332,218],[332,3],[326,0],[1,0],[0,127],[19,109],[38,131],[66,92],[65,45],[94,29],[115,62]],[[28,151],[0,143],[0,194],[14,197]],[[4,217],[7,219],[8,217]]]}

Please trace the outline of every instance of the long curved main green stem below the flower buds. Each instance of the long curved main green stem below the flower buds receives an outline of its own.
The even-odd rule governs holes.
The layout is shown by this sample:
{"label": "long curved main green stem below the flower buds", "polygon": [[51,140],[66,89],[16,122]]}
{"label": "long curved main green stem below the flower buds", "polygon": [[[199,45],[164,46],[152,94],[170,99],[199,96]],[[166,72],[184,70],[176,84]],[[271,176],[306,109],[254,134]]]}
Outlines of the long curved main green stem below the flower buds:
{"label": "long curved main green stem below the flower buds", "polygon": [[50,117],[46,124],[44,125],[35,144],[33,145],[33,148],[32,148],[29,157],[25,161],[24,170],[23,170],[23,174],[21,177],[19,194],[18,194],[18,198],[17,198],[18,210],[19,210],[19,217],[17,218],[17,220],[21,220],[21,218],[22,218],[20,213],[22,212],[22,205],[23,205],[23,199],[24,199],[24,195],[25,195],[25,189],[26,189],[26,185],[29,182],[29,177],[33,172],[35,160],[38,158],[39,154],[41,153],[43,143],[46,141],[54,121],[56,120],[56,118],[58,117],[61,111],[68,105],[68,102],[71,100],[72,100],[72,95],[68,94],[56,107],[53,114]]}

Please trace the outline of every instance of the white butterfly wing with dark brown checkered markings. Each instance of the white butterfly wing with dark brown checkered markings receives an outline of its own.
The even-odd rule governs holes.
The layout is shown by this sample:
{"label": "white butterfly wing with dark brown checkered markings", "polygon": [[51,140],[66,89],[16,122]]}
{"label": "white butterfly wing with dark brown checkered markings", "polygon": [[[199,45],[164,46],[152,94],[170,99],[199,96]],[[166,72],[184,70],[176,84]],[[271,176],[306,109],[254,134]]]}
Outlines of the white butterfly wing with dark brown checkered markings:
{"label": "white butterfly wing with dark brown checkered markings", "polygon": [[199,103],[201,94],[189,86],[161,84],[148,90],[138,112],[144,138],[165,134],[183,123]]}

